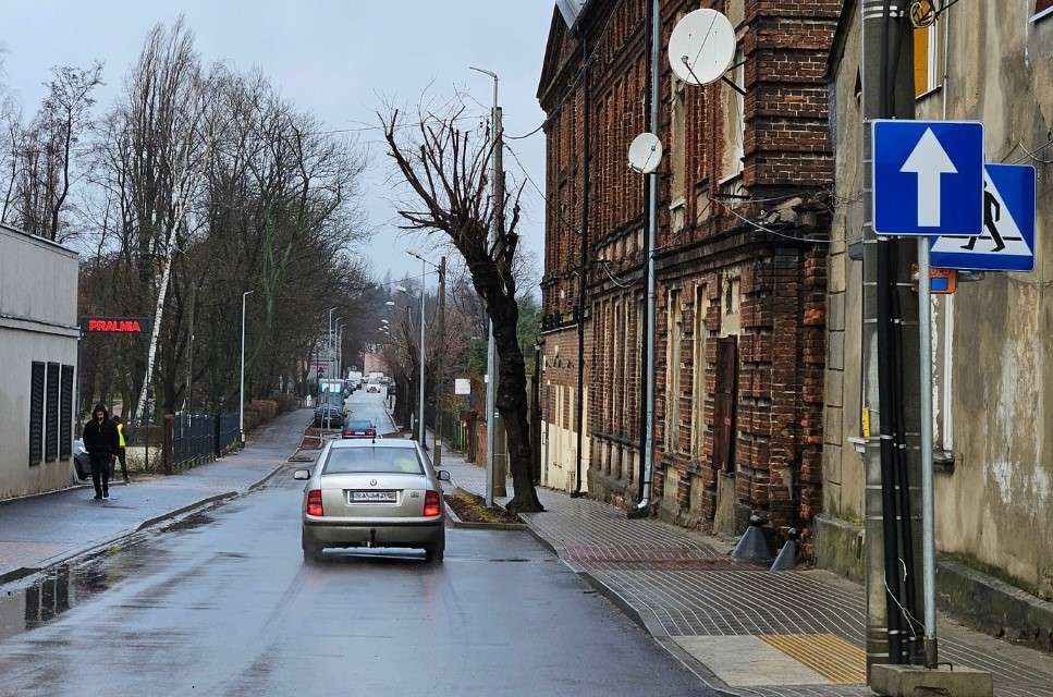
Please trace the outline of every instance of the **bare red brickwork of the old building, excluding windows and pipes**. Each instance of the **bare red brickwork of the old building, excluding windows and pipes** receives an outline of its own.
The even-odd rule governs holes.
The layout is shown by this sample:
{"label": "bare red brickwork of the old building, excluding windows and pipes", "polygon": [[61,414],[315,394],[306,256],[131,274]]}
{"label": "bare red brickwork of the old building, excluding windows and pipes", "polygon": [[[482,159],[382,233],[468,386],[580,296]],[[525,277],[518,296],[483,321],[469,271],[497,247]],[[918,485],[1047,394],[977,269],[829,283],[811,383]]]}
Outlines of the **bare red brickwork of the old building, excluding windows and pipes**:
{"label": "bare red brickwork of the old building, excluding windows and pipes", "polygon": [[[644,222],[644,178],[626,166],[632,138],[645,130],[644,97],[647,83],[644,0],[595,3],[586,15],[591,62],[591,192],[588,273],[589,428],[592,467],[604,486],[625,488],[635,481],[622,465],[637,450],[639,437],[639,341],[642,297],[640,229]],[[683,0],[663,3],[662,33],[668,40],[676,17],[699,7]],[[723,0],[706,7],[724,9]],[[612,9],[614,14],[612,15]],[[821,415],[825,267],[821,245],[796,244],[768,235],[744,223],[761,209],[771,209],[799,195],[811,220],[781,228],[789,236],[822,236],[828,222],[812,198],[832,182],[832,152],[828,138],[828,99],[823,72],[827,51],[840,12],[836,0],[745,0],[740,47],[746,58],[744,83],[745,138],[742,184],[747,197],[721,198],[718,189],[724,148],[725,119],[720,83],[688,86],[684,91],[685,189],[671,192],[673,158],[659,170],[659,308],[657,311],[654,442],[656,498],[664,494],[670,467],[679,470],[671,500],[682,509],[673,517],[705,525],[714,513],[712,458],[712,394],[715,387],[715,340],[707,342],[705,405],[706,431],[701,450],[691,454],[693,394],[691,329],[697,311],[706,314],[711,337],[722,332],[723,281],[739,280],[739,393],[737,498],[743,506],[768,511],[772,524],[807,522],[821,501]],[[602,34],[600,29],[607,27]],[[567,41],[566,35],[562,39]],[[568,66],[568,68],[567,68]],[[550,72],[542,85],[542,108],[551,122],[549,143],[549,211],[546,235],[546,313],[568,313],[577,302],[573,273],[580,262],[581,119],[583,87],[568,85],[580,68],[571,61],[560,73]],[[670,144],[672,74],[662,62],[659,135]],[[562,82],[561,82],[562,81]],[[572,96],[566,96],[572,95]],[[565,103],[564,103],[565,102]],[[684,196],[685,220],[671,229],[669,203]],[[699,198],[701,196],[701,198]],[[709,203],[707,203],[707,199]],[[714,200],[718,199],[718,200]],[[774,203],[772,203],[774,201]],[[730,207],[734,206],[734,209]],[[570,221],[556,211],[571,211]],[[737,216],[736,216],[737,213]],[[818,227],[813,224],[818,221]],[[807,223],[807,224],[806,224]],[[705,283],[706,306],[694,307],[694,288]],[[666,341],[665,297],[682,288],[684,342],[677,395],[681,421],[676,448],[664,448]],[[559,291],[564,297],[559,298]],[[615,304],[629,307],[615,328]],[[564,317],[566,315],[563,315]],[[563,348],[561,348],[561,352]],[[615,365],[620,369],[615,370]],[[623,405],[612,414],[612,403]],[[693,487],[699,487],[693,491]],[[612,489],[599,496],[610,498]],[[604,493],[605,492],[605,493]]]}

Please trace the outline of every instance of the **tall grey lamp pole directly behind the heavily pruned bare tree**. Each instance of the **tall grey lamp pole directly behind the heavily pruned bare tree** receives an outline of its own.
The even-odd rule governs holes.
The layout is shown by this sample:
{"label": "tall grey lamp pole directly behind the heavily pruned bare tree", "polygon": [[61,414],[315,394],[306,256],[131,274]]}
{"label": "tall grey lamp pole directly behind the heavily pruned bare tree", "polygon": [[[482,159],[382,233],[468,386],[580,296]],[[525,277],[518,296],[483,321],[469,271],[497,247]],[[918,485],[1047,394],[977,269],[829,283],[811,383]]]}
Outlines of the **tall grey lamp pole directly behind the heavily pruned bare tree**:
{"label": "tall grey lamp pole directly behind the heavily pruned bare tree", "polygon": [[[501,107],[498,105],[498,75],[481,68],[472,70],[489,75],[493,78],[493,109],[490,114],[490,145],[493,172],[491,182],[491,201],[493,204],[493,227],[490,231],[491,244],[501,245],[504,234],[504,137],[501,123]],[[493,320],[490,321],[489,339],[487,341],[487,496],[486,504],[493,505],[494,497],[503,497],[505,491],[504,463],[497,463],[498,415],[497,411],[497,345],[493,341]]]}

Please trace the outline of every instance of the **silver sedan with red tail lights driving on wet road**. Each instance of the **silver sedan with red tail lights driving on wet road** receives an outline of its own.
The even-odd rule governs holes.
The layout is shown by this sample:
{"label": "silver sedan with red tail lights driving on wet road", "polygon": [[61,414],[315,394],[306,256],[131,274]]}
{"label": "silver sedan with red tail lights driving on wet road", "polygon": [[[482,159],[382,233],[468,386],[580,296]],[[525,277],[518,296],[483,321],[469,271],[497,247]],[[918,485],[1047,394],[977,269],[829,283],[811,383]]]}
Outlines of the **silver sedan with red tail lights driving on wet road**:
{"label": "silver sedan with red tail lights driving on wet road", "polygon": [[318,561],[327,547],[411,547],[442,561],[446,547],[442,481],[416,441],[331,440],[305,480],[304,560]]}

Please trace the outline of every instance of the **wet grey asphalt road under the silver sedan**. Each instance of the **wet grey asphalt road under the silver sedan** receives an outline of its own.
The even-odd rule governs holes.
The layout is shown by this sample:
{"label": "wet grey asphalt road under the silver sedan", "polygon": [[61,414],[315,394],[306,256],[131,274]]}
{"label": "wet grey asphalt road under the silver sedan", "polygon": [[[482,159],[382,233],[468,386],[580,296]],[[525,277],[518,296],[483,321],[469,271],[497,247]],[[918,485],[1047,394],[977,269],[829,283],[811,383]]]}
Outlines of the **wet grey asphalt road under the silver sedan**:
{"label": "wet grey asphalt road under the silver sedan", "polygon": [[416,551],[305,564],[292,468],[4,589],[0,695],[705,694],[527,533],[451,528],[442,564]]}

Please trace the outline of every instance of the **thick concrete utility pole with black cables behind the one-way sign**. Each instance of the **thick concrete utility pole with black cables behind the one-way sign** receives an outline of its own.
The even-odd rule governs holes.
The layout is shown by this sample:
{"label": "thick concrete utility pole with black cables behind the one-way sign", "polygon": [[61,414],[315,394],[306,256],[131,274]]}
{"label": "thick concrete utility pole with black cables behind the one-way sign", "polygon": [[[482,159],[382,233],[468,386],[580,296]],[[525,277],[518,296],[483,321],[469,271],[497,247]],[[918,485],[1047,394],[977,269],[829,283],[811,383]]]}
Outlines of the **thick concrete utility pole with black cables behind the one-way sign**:
{"label": "thick concrete utility pole with black cables behind the one-way sign", "polygon": [[[929,369],[928,352],[918,346],[918,305],[909,292],[913,245],[879,239],[870,220],[873,191],[870,166],[873,119],[914,118],[914,44],[907,20],[908,0],[864,0],[862,162],[864,224],[864,436],[866,439],[867,673],[878,663],[911,663],[919,649],[917,622],[916,534],[920,529],[917,435],[922,415],[916,401],[925,387],[919,374]],[[928,244],[920,239],[920,244]],[[927,260],[927,258],[926,258]],[[928,310],[928,273],[919,283]],[[914,351],[907,350],[913,347]],[[920,362],[917,360],[925,356]],[[919,363],[926,363],[921,366]],[[931,444],[922,444],[929,448]],[[928,611],[928,609],[927,609]],[[935,662],[934,616],[931,661]],[[930,651],[927,640],[926,653]],[[927,662],[929,662],[927,660]]]}

